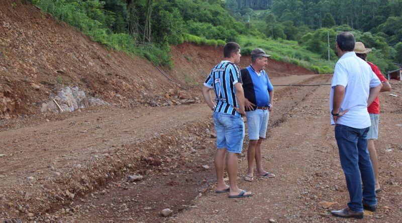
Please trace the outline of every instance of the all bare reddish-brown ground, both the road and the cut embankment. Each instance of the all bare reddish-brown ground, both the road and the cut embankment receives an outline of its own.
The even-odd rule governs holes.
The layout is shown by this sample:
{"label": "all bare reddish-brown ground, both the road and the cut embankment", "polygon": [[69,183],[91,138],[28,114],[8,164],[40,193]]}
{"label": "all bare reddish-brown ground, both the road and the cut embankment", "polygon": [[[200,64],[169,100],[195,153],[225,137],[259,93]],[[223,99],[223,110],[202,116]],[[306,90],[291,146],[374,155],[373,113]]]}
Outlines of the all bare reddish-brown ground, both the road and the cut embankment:
{"label": "all bare reddish-brown ground, both the road and the cut embankment", "polygon": [[[161,72],[0,1],[0,223],[358,221],[329,215],[348,193],[328,85],[275,87],[263,164],[276,177],[242,180],[246,136],[239,184],[254,196],[229,199],[214,193],[216,136],[199,92],[222,49],[173,46],[174,69]],[[274,85],[331,80],[271,60],[266,70]],[[375,144],[384,190],[361,222],[402,217],[402,85],[390,83],[398,97],[380,95]]]}

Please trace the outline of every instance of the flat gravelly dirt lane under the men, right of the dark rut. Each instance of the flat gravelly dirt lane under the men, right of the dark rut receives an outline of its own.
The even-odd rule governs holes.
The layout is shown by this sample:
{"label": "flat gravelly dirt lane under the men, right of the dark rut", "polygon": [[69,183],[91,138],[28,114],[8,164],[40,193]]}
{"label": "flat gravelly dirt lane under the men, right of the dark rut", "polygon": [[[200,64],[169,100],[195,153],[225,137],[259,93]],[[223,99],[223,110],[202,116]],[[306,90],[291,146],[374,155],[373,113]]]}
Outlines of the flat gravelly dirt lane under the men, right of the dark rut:
{"label": "flat gravelly dirt lane under the men, right of the dark rut", "polygon": [[[174,222],[268,222],[270,219],[276,222],[398,222],[395,219],[399,218],[395,217],[401,216],[399,201],[402,198],[399,171],[402,162],[398,158],[402,156],[402,147],[400,143],[394,144],[395,134],[384,134],[385,131],[376,142],[381,162],[380,181],[385,189],[377,194],[379,208],[376,212],[365,211],[362,220],[330,214],[331,210],[346,206],[349,194],[334,127],[329,121],[329,88],[312,89],[268,132],[270,137],[263,143],[263,164],[266,170],[276,174],[275,178],[242,180],[247,169],[244,151],[239,165],[239,169],[243,169],[239,174],[239,186],[253,191],[254,196],[236,200],[210,190],[178,213]],[[385,95],[383,93],[382,97]],[[386,99],[385,102],[391,102],[383,103],[384,107],[390,110],[393,120],[400,122],[402,116],[392,113],[396,109],[395,99]],[[388,115],[387,112],[382,114],[384,120],[389,121],[391,115]],[[384,125],[381,128],[396,130],[395,122],[381,125]]]}

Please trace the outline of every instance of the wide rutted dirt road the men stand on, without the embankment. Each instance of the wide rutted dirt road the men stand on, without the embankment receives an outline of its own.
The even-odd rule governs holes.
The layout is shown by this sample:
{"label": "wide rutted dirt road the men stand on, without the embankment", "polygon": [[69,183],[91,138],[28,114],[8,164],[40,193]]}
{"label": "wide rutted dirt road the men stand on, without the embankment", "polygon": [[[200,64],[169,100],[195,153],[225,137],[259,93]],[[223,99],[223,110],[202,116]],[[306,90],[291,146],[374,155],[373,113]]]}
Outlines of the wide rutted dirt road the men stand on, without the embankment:
{"label": "wide rutted dirt road the men stand on, without the embankment", "polygon": [[[272,82],[317,84],[330,78],[291,76]],[[393,92],[402,95],[401,89],[394,87]],[[229,199],[213,192],[215,139],[205,104],[97,108],[0,132],[0,154],[5,154],[0,157],[0,219],[339,222],[342,219],[328,213],[343,208],[348,193],[328,121],[329,86],[275,91],[263,162],[276,177],[242,180],[247,136],[239,159],[240,187],[253,191],[252,198]],[[393,133],[402,128],[397,126],[402,124],[400,97],[381,96],[383,121],[376,146],[384,191],[378,194],[379,210],[366,213],[364,222],[392,222],[402,215],[402,143]],[[144,179],[128,182],[129,175]],[[322,201],[338,203],[324,208],[330,203]],[[161,217],[164,208],[172,209],[173,215]]]}

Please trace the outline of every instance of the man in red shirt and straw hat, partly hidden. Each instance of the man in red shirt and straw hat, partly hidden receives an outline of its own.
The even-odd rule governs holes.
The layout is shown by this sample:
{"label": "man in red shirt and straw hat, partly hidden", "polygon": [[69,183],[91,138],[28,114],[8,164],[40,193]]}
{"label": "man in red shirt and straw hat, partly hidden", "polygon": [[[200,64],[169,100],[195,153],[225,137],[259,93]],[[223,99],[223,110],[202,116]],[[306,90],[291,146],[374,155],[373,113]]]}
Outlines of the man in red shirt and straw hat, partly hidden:
{"label": "man in red shirt and straw hat, partly hidden", "polygon": [[[366,61],[367,54],[371,52],[371,49],[365,48],[362,42],[356,42],[354,52],[356,53],[356,56]],[[380,92],[390,91],[391,86],[389,85],[387,79],[385,79],[385,77],[381,74],[380,69],[378,69],[378,67],[375,66],[373,63],[370,63],[368,61],[366,62],[368,63],[368,65],[370,65],[371,70],[373,70],[373,72],[377,75],[378,79],[380,79],[382,83]],[[373,103],[371,103],[371,105],[367,107],[367,111],[370,114],[370,120],[371,120],[370,130],[367,133],[368,138],[367,148],[368,152],[370,153],[371,163],[373,164],[374,178],[375,178],[375,192],[377,193],[382,190],[378,182],[378,158],[377,158],[377,152],[375,151],[374,147],[374,139],[378,138],[378,122],[380,113],[380,104],[378,97],[376,97]]]}

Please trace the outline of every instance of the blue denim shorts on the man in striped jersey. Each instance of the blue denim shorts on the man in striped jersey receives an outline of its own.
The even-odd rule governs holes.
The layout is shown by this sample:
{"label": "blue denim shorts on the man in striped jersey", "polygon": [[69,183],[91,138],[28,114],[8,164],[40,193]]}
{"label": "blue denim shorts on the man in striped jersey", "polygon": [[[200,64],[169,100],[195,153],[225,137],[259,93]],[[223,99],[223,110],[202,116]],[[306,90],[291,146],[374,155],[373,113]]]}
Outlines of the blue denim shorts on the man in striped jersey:
{"label": "blue denim shorts on the man in striped jersey", "polygon": [[217,148],[228,152],[241,153],[244,139],[244,120],[241,116],[214,112],[217,132]]}

